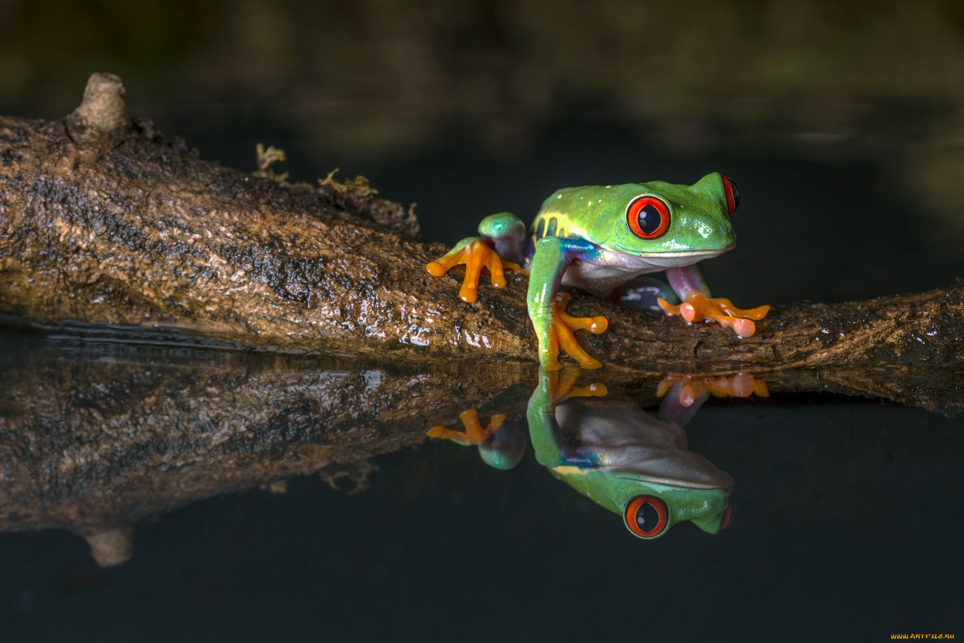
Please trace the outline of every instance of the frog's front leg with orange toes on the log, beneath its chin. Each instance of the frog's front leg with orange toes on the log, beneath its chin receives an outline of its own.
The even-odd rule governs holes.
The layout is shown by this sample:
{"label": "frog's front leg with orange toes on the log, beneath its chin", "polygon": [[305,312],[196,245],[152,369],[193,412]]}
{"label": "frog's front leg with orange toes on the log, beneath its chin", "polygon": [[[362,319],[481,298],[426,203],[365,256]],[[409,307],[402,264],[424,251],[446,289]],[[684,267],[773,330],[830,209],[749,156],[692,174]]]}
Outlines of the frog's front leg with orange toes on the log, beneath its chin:
{"label": "frog's front leg with orange toes on the log, beneath its chin", "polygon": [[673,306],[660,299],[659,308],[662,308],[667,315],[680,315],[690,324],[706,319],[720,326],[732,328],[740,337],[749,337],[757,332],[753,321],[763,319],[770,309],[769,306],[736,308],[729,299],[712,298],[710,288],[703,280],[703,275],[700,274],[700,269],[695,263],[679,268],[667,268],[666,278],[683,303],[680,306]]}

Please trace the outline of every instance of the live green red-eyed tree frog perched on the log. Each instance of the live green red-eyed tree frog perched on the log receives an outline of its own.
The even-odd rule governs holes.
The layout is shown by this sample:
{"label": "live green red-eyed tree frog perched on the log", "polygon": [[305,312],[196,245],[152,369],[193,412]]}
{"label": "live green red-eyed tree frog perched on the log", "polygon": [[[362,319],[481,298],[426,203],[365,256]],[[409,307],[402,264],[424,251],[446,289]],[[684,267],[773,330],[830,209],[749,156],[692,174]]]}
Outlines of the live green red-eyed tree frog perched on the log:
{"label": "live green red-eyed tree frog perched on the log", "polygon": [[729,299],[713,298],[697,265],[736,246],[731,217],[739,201],[736,182],[718,172],[692,185],[656,180],[563,188],[543,202],[528,228],[512,213],[490,215],[477,236],[462,239],[425,267],[442,277],[465,264],[459,296],[469,304],[478,299],[483,269],[495,287],[506,286],[505,270],[527,274],[526,306],[539,363],[550,371],[562,368],[560,349],[582,368],[602,367],[574,332],[598,335],[608,328],[601,315],[569,315],[571,297],[560,286],[606,298],[643,275],[665,271],[668,284],[656,297],[665,315],[687,324],[714,322],[749,337],[770,307],[736,308]]}

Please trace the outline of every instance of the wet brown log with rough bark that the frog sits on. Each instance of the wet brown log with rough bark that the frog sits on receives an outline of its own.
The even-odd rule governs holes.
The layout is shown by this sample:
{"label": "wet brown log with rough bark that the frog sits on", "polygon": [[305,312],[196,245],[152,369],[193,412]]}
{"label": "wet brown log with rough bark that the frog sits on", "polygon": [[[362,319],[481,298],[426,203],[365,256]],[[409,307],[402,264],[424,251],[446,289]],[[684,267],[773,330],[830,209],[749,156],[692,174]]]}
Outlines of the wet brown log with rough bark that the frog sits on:
{"label": "wet brown log with rough bark that the frog sits on", "polygon": [[[381,362],[536,358],[526,279],[458,297],[462,273],[425,264],[411,211],[363,180],[289,184],[199,158],[129,121],[120,79],[94,74],[63,121],[0,118],[0,311],[54,329],[128,325],[184,341]],[[582,336],[607,367],[659,372],[964,357],[964,283],[866,302],[777,306],[740,339],[576,293],[604,315]],[[583,334],[580,334],[583,335]]]}

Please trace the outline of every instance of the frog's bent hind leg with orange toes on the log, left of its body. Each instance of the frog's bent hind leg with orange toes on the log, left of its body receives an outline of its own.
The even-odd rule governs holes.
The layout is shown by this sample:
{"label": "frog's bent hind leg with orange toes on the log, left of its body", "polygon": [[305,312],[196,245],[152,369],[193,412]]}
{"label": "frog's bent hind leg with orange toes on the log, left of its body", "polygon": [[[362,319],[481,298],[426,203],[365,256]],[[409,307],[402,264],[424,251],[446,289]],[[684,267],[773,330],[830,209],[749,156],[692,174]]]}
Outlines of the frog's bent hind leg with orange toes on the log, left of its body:
{"label": "frog's bent hind leg with orange toes on the log, left of its body", "polygon": [[505,287],[505,268],[525,272],[520,265],[525,249],[525,225],[519,217],[508,212],[488,216],[479,224],[479,234],[463,239],[444,256],[425,266],[429,274],[442,277],[453,266],[466,264],[459,297],[469,304],[478,299],[482,268],[489,269],[496,288]]}

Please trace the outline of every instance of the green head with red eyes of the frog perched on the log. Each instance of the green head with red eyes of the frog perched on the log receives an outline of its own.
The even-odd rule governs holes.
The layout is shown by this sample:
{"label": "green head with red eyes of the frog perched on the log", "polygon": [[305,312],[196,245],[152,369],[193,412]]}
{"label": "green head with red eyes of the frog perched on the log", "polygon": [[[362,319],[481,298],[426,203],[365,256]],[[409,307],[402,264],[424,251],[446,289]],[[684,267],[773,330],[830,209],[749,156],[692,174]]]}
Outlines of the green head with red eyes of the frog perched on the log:
{"label": "green head with red eyes of the frog perched on the log", "polygon": [[603,203],[607,223],[601,226],[603,238],[597,243],[617,252],[699,260],[736,245],[730,217],[739,204],[739,189],[718,172],[693,185],[613,185],[604,189]]}

